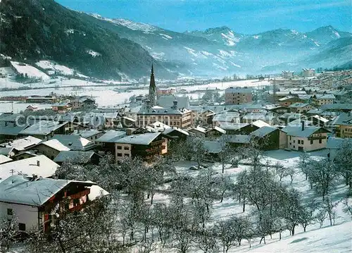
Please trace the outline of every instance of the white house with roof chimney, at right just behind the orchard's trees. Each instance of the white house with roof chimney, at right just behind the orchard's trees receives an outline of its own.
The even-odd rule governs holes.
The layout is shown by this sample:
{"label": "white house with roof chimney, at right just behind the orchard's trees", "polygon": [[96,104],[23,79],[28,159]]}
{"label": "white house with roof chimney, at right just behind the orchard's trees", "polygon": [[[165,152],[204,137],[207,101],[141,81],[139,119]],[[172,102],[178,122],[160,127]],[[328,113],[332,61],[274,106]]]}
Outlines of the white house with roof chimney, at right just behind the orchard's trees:
{"label": "white house with roof chimney, at right just behind the orchard's trees", "polygon": [[302,121],[301,126],[287,125],[282,128],[287,133],[287,147],[292,150],[310,152],[325,149],[327,146],[327,133],[330,131],[318,126],[306,126]]}

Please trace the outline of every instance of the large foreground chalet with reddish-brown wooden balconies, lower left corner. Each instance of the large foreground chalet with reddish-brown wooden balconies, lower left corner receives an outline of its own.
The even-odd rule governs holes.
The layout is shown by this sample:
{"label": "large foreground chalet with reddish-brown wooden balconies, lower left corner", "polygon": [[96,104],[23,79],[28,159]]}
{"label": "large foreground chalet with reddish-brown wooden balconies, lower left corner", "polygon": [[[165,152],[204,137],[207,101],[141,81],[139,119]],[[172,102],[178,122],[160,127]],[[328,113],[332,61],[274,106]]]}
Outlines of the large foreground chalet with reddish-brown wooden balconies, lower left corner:
{"label": "large foreground chalet with reddish-brown wooden balconies, lower left corner", "polygon": [[20,232],[34,229],[50,233],[56,211],[80,211],[106,195],[106,190],[90,181],[11,175],[0,183],[0,218],[16,218]]}

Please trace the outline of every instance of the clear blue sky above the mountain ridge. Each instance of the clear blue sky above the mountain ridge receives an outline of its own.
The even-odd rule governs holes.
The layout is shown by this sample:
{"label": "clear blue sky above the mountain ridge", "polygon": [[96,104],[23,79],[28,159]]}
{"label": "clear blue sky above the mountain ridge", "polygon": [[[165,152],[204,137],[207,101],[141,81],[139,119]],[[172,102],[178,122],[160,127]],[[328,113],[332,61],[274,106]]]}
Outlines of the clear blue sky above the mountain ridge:
{"label": "clear blue sky above the mountain ridge", "polygon": [[56,0],[77,11],[126,18],[168,30],[226,25],[253,34],[277,28],[301,32],[332,25],[352,32],[352,0]]}

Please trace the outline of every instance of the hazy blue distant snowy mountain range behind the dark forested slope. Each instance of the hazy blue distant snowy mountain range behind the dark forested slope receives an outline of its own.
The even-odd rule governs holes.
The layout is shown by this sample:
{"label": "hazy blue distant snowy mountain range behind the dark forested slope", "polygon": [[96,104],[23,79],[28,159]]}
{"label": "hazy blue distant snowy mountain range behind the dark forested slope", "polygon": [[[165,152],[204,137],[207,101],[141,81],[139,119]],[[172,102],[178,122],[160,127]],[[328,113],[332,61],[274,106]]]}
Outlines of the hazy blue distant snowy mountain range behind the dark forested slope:
{"label": "hazy blue distant snowy mountain range behind the dark forested slope", "polygon": [[329,61],[314,59],[330,50],[330,42],[345,39],[345,43],[352,44],[350,32],[332,26],[311,32],[277,29],[254,35],[240,34],[226,26],[180,33],[130,20],[92,16],[115,25],[121,37],[142,45],[167,68],[184,75],[277,71],[284,63],[297,69],[329,68],[346,63],[346,57],[341,58],[335,50],[334,59],[331,56]]}

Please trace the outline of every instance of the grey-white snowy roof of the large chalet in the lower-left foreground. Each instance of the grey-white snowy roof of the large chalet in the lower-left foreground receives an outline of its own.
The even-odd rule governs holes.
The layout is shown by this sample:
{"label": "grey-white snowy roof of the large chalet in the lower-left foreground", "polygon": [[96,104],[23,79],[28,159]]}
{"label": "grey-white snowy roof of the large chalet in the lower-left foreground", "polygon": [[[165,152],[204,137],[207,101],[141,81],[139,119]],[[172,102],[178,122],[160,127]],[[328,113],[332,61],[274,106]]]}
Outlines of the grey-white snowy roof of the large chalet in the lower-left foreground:
{"label": "grey-white snowy roof of the large chalet in the lower-left foreground", "polygon": [[0,183],[0,202],[42,206],[71,183],[87,186],[95,185],[91,182],[51,178],[32,180],[31,177],[23,175],[11,175]]}

